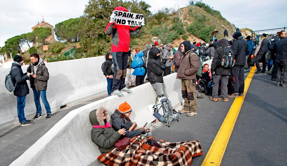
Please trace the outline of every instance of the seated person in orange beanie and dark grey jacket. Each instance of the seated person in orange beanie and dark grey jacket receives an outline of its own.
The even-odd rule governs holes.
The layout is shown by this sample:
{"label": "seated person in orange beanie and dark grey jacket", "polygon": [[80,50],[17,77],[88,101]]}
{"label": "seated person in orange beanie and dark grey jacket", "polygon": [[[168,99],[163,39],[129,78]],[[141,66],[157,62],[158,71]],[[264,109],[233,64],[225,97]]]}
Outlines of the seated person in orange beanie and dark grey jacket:
{"label": "seated person in orange beanie and dark grey jacket", "polygon": [[127,131],[125,133],[125,137],[129,138],[151,131],[150,129],[145,129],[144,127],[140,127],[137,129],[137,124],[129,119],[129,117],[131,116],[131,111],[131,106],[126,101],[124,103],[121,103],[121,105],[119,105],[119,109],[116,109],[115,112],[111,115],[113,121],[113,129],[115,129],[115,131],[118,131],[119,129],[126,127]]}

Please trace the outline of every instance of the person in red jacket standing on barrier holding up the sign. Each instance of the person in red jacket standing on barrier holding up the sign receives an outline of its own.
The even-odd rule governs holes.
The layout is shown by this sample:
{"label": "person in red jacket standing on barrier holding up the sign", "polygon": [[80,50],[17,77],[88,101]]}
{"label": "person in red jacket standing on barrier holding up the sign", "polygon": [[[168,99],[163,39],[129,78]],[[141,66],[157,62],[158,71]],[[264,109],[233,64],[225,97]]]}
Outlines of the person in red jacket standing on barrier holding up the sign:
{"label": "person in red jacket standing on barrier holding up the sign", "polygon": [[[126,11],[124,7],[118,6],[115,10]],[[142,22],[144,23],[144,21]],[[106,26],[105,34],[111,36],[113,64],[115,66],[115,74],[113,79],[113,89],[111,95],[121,96],[122,92],[130,93],[131,90],[126,88],[125,77],[127,75],[127,60],[129,51],[130,37],[139,33],[141,27],[134,29],[128,25],[117,25],[115,23],[115,14],[110,15],[110,22]]]}

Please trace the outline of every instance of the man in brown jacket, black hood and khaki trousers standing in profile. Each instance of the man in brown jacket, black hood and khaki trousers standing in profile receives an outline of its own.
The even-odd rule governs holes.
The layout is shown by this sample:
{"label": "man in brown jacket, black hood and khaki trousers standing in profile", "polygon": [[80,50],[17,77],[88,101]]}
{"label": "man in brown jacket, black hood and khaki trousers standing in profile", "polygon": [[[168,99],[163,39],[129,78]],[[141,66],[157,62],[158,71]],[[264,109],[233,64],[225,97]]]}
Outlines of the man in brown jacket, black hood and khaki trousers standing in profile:
{"label": "man in brown jacket, black hood and khaki trousers standing in profile", "polygon": [[190,41],[181,43],[183,57],[177,71],[177,79],[181,79],[181,93],[184,99],[183,109],[180,113],[187,112],[187,116],[197,114],[197,98],[196,98],[196,72],[199,69],[199,59],[197,54],[192,51]]}

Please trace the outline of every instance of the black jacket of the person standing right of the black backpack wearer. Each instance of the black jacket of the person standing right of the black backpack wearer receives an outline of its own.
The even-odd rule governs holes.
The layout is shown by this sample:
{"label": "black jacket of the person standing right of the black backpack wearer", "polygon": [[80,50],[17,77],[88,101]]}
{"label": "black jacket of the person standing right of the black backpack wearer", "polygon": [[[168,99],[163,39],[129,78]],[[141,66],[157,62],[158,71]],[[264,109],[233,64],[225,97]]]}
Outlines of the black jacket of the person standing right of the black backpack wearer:
{"label": "black jacket of the person standing right of the black backpack wearer", "polygon": [[249,46],[247,41],[243,40],[243,37],[238,37],[232,44],[232,50],[234,54],[235,66],[244,66],[246,55],[249,54]]}

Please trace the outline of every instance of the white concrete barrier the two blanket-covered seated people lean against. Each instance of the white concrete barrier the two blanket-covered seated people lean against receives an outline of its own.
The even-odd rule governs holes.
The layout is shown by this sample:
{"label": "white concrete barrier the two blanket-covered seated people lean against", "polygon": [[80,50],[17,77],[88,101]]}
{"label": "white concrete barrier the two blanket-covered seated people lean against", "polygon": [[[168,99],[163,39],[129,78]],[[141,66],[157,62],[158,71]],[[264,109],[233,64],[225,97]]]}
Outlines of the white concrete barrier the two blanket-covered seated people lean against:
{"label": "white concrete barrier the two blanket-covered seated people lean against", "polygon": [[[164,77],[174,107],[181,105],[182,101],[181,80],[176,79],[176,75],[173,73]],[[106,97],[69,112],[11,165],[99,165],[97,157],[101,153],[91,140],[90,111],[103,106],[111,114],[119,104],[127,101],[133,109],[131,120],[138,126],[148,122],[150,127],[156,119],[147,108],[157,96],[151,84],[146,83],[132,90],[132,93],[124,93],[121,97]]]}

